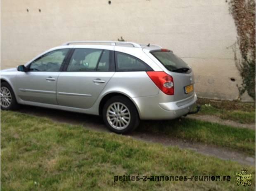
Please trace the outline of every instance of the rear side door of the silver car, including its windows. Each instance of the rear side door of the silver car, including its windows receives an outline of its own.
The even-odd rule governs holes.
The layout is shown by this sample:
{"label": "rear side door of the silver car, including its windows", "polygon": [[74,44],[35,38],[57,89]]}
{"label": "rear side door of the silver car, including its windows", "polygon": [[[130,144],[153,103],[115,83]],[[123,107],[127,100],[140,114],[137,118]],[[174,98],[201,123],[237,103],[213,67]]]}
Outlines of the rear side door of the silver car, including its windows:
{"label": "rear side door of the silver car, including its windows", "polygon": [[114,51],[74,49],[57,81],[59,105],[87,109],[114,75]]}

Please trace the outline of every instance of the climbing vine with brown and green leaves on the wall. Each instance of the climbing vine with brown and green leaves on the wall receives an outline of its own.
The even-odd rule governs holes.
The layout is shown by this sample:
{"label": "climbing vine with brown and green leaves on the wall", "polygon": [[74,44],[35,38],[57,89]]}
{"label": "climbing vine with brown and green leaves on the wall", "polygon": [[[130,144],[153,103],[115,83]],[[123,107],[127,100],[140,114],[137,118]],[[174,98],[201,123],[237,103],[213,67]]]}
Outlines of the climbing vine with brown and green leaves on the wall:
{"label": "climbing vine with brown and green leaves on the wall", "polygon": [[236,66],[242,76],[239,97],[247,91],[255,101],[255,0],[229,0],[229,11],[237,28],[237,44],[242,56],[235,54]]}

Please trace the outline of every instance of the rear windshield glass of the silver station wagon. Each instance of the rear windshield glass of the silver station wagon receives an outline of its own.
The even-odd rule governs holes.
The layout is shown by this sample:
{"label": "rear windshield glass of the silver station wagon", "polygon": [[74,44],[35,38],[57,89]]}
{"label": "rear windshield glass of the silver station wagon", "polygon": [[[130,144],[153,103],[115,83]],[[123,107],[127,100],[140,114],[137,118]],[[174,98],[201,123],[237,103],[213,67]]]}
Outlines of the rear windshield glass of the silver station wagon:
{"label": "rear windshield glass of the silver station wagon", "polygon": [[164,67],[171,72],[191,72],[187,63],[171,51],[153,51],[151,54],[153,54],[164,65]]}

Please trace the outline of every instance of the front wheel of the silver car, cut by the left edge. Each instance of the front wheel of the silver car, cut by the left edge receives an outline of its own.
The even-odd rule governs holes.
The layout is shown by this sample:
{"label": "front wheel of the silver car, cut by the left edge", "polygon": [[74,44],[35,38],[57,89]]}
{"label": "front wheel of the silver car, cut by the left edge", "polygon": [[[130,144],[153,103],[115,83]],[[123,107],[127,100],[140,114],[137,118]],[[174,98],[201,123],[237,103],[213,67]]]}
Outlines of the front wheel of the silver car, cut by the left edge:
{"label": "front wheel of the silver car, cut by the left edge", "polygon": [[1,82],[1,109],[14,110],[17,109],[18,103],[12,87],[7,82]]}

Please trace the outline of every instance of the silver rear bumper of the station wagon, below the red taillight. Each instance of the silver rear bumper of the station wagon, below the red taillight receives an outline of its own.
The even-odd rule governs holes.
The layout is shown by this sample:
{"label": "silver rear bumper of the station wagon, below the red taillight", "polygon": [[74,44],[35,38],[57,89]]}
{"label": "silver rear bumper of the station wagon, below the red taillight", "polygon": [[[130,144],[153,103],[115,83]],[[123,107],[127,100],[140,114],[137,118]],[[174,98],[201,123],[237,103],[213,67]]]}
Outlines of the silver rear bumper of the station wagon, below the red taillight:
{"label": "silver rear bumper of the station wagon, below the red taillight", "polygon": [[197,101],[194,93],[189,98],[174,102],[159,102],[158,96],[133,98],[140,119],[175,119],[192,111]]}

